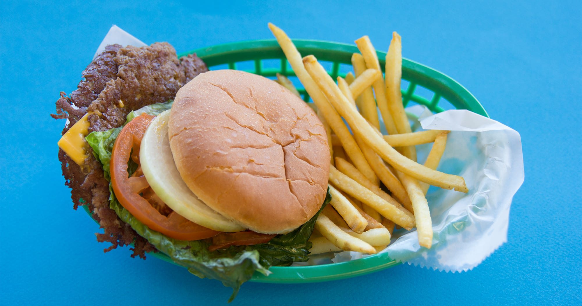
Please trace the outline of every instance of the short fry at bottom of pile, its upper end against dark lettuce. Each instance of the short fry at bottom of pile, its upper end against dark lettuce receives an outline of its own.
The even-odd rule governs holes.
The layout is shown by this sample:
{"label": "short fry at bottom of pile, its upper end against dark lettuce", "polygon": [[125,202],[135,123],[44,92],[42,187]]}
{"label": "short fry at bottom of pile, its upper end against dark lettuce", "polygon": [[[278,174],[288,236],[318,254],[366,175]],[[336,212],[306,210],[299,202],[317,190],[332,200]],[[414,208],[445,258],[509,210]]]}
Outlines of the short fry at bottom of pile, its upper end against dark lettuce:
{"label": "short fry at bottom of pile, its upper end against dark lettuce", "polygon": [[321,235],[326,237],[329,242],[335,246],[346,251],[358,251],[366,254],[375,254],[376,249],[369,243],[363,242],[361,239],[350,236],[350,234],[342,231],[337,225],[325,215],[320,214],[315,220],[315,228],[320,231]]}

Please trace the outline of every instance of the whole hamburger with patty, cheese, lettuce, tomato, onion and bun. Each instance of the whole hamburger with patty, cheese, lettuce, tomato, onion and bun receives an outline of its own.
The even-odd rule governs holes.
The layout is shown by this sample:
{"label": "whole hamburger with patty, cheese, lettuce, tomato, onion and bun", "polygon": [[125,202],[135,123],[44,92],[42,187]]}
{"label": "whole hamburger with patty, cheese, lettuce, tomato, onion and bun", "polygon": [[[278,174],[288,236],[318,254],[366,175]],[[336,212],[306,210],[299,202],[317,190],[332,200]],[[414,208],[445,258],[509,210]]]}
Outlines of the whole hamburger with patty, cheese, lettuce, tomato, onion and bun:
{"label": "whole hamburger with patty, cheese, lettuce, tomato, onion and bun", "polygon": [[59,160],[73,207],[103,233],[233,287],[308,260],[330,154],[310,107],[260,75],[208,71],[167,43],[110,45],[61,92]]}

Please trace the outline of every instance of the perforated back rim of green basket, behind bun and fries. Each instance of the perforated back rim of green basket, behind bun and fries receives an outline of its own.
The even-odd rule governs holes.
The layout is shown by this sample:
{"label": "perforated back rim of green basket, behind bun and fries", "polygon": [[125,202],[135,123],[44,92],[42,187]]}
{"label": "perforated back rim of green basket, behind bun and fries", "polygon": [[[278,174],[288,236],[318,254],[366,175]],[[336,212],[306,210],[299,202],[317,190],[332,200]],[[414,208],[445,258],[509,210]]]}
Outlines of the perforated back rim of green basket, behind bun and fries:
{"label": "perforated back rim of green basket, behind bun and fries", "polygon": [[[340,64],[351,64],[352,54],[359,53],[356,45],[340,42],[312,39],[292,39],[292,41],[301,55],[314,55],[322,62],[332,62],[332,70],[328,71],[328,73],[333,78],[340,75]],[[285,55],[276,39],[230,42],[228,44],[209,46],[180,53],[179,56],[186,56],[191,53],[196,53],[197,56],[204,60],[208,67],[228,64],[229,69],[236,69],[237,62],[254,61],[255,69],[250,72],[265,76],[275,75],[275,72],[294,75],[293,71],[287,66]],[[386,52],[377,51],[377,55],[380,67],[384,70]],[[261,61],[267,59],[280,59],[281,68],[261,69]],[[487,111],[485,111],[481,103],[479,103],[472,93],[459,82],[438,70],[403,58],[402,79],[410,82],[409,87],[402,91],[404,105],[409,100],[413,100],[416,103],[427,106],[431,111],[438,113],[444,110],[438,106],[438,103],[442,99],[446,99],[456,109],[467,109],[482,116],[489,117]],[[414,95],[417,85],[434,92],[435,94],[432,99],[428,100],[422,96]]]}

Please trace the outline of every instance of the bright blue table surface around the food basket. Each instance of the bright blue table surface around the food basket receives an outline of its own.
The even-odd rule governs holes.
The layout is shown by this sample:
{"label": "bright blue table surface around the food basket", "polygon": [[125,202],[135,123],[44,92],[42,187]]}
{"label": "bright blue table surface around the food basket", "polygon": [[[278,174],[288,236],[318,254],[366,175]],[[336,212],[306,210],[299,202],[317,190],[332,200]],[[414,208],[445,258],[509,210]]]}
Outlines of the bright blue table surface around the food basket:
{"label": "bright blue table surface around the food basket", "polygon": [[231,289],[215,280],[128,248],[103,253],[97,225],[72,210],[56,157],[64,121],[48,115],[112,24],[184,52],[271,38],[269,21],[293,38],[367,34],[384,51],[398,31],[404,56],[452,76],[521,133],[526,179],[508,243],[473,271],[404,264],[333,282],[249,282],[232,305],[582,303],[580,2],[84,2],[0,2],[0,304],[226,303]]}

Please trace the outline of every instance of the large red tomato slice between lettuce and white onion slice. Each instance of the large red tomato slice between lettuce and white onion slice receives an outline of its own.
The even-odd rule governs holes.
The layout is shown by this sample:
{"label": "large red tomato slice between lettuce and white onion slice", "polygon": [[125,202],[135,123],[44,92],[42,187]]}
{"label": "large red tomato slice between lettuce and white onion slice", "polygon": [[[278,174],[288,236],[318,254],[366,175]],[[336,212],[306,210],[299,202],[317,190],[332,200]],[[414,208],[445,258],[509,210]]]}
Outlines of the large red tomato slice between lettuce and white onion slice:
{"label": "large red tomato slice between lettuce and white onion slice", "polygon": [[[179,240],[200,240],[217,235],[217,231],[191,222],[169,209],[152,192],[141,172],[141,167],[132,177],[128,177],[127,162],[131,158],[139,164],[141,138],[153,118],[147,114],[134,118],[123,127],[115,140],[110,164],[111,185],[115,196],[119,203],[140,222],[168,237]],[[159,211],[169,213],[168,216],[160,213],[155,207]]]}

